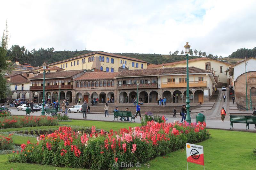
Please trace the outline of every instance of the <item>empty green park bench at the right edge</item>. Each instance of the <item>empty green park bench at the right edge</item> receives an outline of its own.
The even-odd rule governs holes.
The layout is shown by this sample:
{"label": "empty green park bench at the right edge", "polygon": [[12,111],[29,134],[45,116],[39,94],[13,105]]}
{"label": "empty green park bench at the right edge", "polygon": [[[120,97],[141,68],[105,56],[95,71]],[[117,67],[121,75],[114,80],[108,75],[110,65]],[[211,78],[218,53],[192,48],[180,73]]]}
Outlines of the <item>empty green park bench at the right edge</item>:
{"label": "empty green park bench at the right edge", "polygon": [[233,127],[233,123],[246,124],[246,130],[249,129],[249,124],[256,124],[256,116],[244,116],[244,115],[229,115],[230,116],[230,129]]}

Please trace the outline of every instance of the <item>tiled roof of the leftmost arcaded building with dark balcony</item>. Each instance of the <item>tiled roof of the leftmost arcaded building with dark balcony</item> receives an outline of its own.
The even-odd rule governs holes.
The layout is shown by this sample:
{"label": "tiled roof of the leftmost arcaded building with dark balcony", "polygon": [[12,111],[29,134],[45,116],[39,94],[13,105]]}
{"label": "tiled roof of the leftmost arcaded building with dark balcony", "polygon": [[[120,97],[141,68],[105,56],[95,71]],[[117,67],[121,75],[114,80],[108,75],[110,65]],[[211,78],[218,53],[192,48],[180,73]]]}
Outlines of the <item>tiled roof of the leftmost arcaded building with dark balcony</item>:
{"label": "tiled roof of the leftmost arcaded building with dark balcony", "polygon": [[[61,77],[72,77],[76,74],[79,74],[83,72],[83,70],[75,70],[75,71],[56,71],[56,72],[50,72],[45,74],[45,78],[61,78]],[[43,79],[44,74],[37,75],[35,77],[29,78],[30,80],[33,79]]]}

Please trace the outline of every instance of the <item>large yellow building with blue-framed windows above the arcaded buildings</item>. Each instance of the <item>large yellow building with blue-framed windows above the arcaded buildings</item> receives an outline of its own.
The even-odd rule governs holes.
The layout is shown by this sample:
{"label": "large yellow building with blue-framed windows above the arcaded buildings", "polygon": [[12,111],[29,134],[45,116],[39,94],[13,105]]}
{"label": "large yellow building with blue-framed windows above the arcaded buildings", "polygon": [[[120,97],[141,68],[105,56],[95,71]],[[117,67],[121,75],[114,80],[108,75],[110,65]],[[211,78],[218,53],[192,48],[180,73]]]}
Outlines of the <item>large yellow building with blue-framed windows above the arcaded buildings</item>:
{"label": "large yellow building with blue-framed windows above the arcaded buildings", "polygon": [[[47,67],[59,67],[65,70],[91,70],[93,68],[106,72],[122,70],[147,69],[148,62],[106,52],[93,52],[69,58],[67,60],[47,64]],[[33,71],[41,70],[41,67]]]}

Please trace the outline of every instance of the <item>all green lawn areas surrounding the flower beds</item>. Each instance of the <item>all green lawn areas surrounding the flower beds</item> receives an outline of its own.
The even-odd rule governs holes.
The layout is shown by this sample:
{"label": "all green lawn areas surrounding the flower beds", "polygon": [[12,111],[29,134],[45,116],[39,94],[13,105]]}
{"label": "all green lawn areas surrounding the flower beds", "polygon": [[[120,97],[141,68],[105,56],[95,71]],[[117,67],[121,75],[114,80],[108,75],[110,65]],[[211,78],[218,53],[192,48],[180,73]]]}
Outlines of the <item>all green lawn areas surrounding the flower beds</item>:
{"label": "all green lawn areas surrounding the flower beds", "polygon": [[[126,122],[100,122],[100,121],[83,121],[72,120],[72,122],[60,122],[61,125],[76,125],[76,126],[96,126],[99,129],[105,130],[118,130],[120,128],[128,128],[129,126],[139,126],[139,123],[126,123]],[[34,127],[36,129],[40,127]],[[46,127],[44,127],[46,128]],[[42,127],[42,129],[44,129]],[[12,128],[10,128],[12,129]],[[16,128],[18,129],[18,128]],[[26,129],[26,128],[24,128]],[[13,129],[12,129],[13,130]],[[20,130],[20,129],[19,129]],[[226,130],[214,130],[209,129],[212,138],[198,143],[204,146],[204,161],[205,169],[255,169],[256,156],[253,155],[252,150],[255,148],[256,133],[249,132],[236,132]],[[27,140],[36,142],[34,137],[21,137],[14,136],[13,141],[15,144],[26,143]],[[144,163],[141,163],[140,169],[186,169],[186,150],[179,150],[169,153],[162,157],[157,157],[148,162],[150,168],[145,167]],[[0,167],[1,169],[72,169],[72,168],[59,168],[54,166],[43,166],[35,164],[20,164],[7,162],[7,155],[0,155]],[[203,169],[203,166],[188,163],[189,169]],[[133,168],[135,169],[135,168]],[[132,168],[131,168],[132,170]]]}

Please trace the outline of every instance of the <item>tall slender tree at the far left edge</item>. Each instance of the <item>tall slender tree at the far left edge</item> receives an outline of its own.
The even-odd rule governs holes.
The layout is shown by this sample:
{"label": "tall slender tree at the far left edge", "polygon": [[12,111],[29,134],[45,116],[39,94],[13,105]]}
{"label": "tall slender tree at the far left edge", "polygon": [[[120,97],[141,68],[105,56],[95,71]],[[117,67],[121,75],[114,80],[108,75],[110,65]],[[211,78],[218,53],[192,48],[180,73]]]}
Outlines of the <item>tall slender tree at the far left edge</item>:
{"label": "tall slender tree at the far left edge", "polygon": [[0,42],[0,99],[5,99],[7,95],[11,94],[9,85],[4,78],[4,75],[7,71],[12,70],[12,63],[9,62],[10,57],[7,54],[8,50],[8,30],[7,23],[6,29],[3,32]]}

